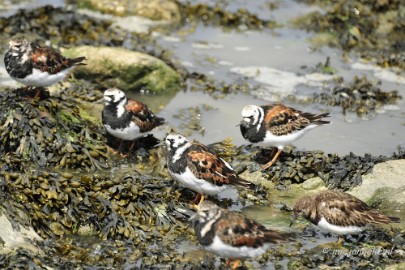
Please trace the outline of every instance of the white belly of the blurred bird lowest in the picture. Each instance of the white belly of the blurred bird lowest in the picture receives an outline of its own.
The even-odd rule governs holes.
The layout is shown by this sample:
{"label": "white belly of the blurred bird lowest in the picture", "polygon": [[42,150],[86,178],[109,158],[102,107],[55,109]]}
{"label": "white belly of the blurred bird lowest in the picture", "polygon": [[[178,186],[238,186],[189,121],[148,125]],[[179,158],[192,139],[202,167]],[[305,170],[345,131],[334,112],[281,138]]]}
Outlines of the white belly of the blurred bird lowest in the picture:
{"label": "white belly of the blurred bird lowest in the picture", "polygon": [[264,252],[266,252],[268,247],[269,244],[264,244],[262,247],[258,248],[251,248],[246,246],[232,247],[222,242],[222,240],[218,236],[215,236],[212,244],[210,246],[206,246],[205,249],[218,254],[221,257],[236,259],[260,256]]}

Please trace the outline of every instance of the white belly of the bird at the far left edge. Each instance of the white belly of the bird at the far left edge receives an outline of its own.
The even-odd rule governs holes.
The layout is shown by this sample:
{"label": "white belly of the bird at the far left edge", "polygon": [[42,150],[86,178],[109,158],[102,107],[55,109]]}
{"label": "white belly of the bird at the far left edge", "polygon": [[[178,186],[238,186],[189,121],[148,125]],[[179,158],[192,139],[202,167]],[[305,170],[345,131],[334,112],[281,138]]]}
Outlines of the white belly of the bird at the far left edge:
{"label": "white belly of the bird at the far left edge", "polygon": [[65,69],[56,74],[41,72],[34,68],[32,74],[25,78],[15,78],[15,80],[28,86],[47,87],[63,80],[72,68]]}

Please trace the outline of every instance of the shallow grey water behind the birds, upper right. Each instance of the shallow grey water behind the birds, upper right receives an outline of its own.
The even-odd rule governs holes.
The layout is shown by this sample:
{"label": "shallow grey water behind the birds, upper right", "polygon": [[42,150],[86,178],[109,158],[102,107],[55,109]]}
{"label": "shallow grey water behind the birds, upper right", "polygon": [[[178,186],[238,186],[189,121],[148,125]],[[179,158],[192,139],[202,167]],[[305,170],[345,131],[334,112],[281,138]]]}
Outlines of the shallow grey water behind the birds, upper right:
{"label": "shallow grey water behind the birds, upper right", "polygon": [[[338,70],[336,76],[342,76],[346,82],[353,80],[356,75],[365,75],[370,80],[379,79],[375,76],[374,70],[352,69],[352,63],[357,63],[358,59],[352,59],[352,63],[343,62],[341,53],[335,49],[311,50],[310,44],[306,41],[309,36],[310,34],[289,28],[238,33],[224,32],[219,28],[199,25],[194,33],[182,37],[178,42],[167,41],[172,40],[167,37],[158,39],[163,46],[174,51],[175,56],[187,69],[210,74],[216,80],[224,80],[229,83],[236,83],[243,78],[240,74],[231,72],[231,69],[239,68],[246,71],[246,67],[253,67],[253,69],[266,71],[266,68],[274,68],[297,74],[303,73],[302,66],[315,67],[316,64],[323,63],[327,56],[331,58],[332,66]],[[302,78],[302,76],[300,77]],[[204,136],[196,134],[194,138],[209,143],[232,137],[235,144],[241,145],[246,144],[246,141],[243,140],[235,125],[241,119],[242,108],[252,103],[262,105],[279,100],[304,111],[326,110],[331,113],[330,120],[333,123],[314,129],[296,141],[294,145],[299,149],[323,150],[340,155],[350,152],[357,155],[365,153],[390,155],[396,151],[398,145],[405,144],[404,99],[399,100],[398,104],[394,106],[383,108],[385,110],[374,119],[363,120],[355,114],[344,116],[341,109],[337,107],[325,107],[319,104],[302,106],[289,103],[286,101],[286,95],[304,98],[321,91],[321,87],[312,86],[321,84],[320,82],[304,82],[306,85],[291,82],[296,78],[297,76],[288,77],[286,80],[289,80],[289,83],[282,82],[272,86],[269,83],[276,80],[277,77],[271,77],[271,75],[266,77],[266,74],[260,74],[258,79],[264,83],[257,82],[255,78],[248,79],[252,84],[260,85],[259,93],[229,95],[222,99],[214,99],[210,95],[200,92],[180,92],[160,113],[168,118],[169,123],[175,123],[175,121],[172,122],[170,116],[175,113],[176,109],[209,104],[215,110],[201,114],[205,134]],[[404,83],[382,80],[381,88],[385,91],[396,89],[402,96],[405,96]]]}

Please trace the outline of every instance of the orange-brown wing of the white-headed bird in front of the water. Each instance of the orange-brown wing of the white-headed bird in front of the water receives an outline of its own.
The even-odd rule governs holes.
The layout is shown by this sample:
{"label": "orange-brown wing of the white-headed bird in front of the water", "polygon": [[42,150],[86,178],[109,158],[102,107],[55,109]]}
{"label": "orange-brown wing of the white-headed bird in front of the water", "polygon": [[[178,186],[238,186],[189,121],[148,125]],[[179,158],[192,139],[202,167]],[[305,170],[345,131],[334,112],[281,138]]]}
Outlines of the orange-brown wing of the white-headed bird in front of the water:
{"label": "orange-brown wing of the white-headed bird in front of the water", "polygon": [[302,116],[302,112],[282,104],[268,108],[264,119],[267,129],[281,136],[304,129],[311,121]]}

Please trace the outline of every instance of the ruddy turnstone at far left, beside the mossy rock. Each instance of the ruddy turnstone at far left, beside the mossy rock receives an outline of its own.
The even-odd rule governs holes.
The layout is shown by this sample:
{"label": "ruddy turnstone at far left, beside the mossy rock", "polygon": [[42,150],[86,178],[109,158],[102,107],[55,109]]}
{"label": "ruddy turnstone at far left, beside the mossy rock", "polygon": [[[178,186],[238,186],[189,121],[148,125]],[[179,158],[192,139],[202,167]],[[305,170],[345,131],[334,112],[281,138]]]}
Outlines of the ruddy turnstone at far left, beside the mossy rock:
{"label": "ruddy turnstone at far left, beside the mossy rock", "polygon": [[31,43],[23,36],[10,40],[4,55],[10,77],[34,87],[47,87],[61,81],[72,68],[85,65],[83,60],[85,57],[63,57],[55,49]]}

